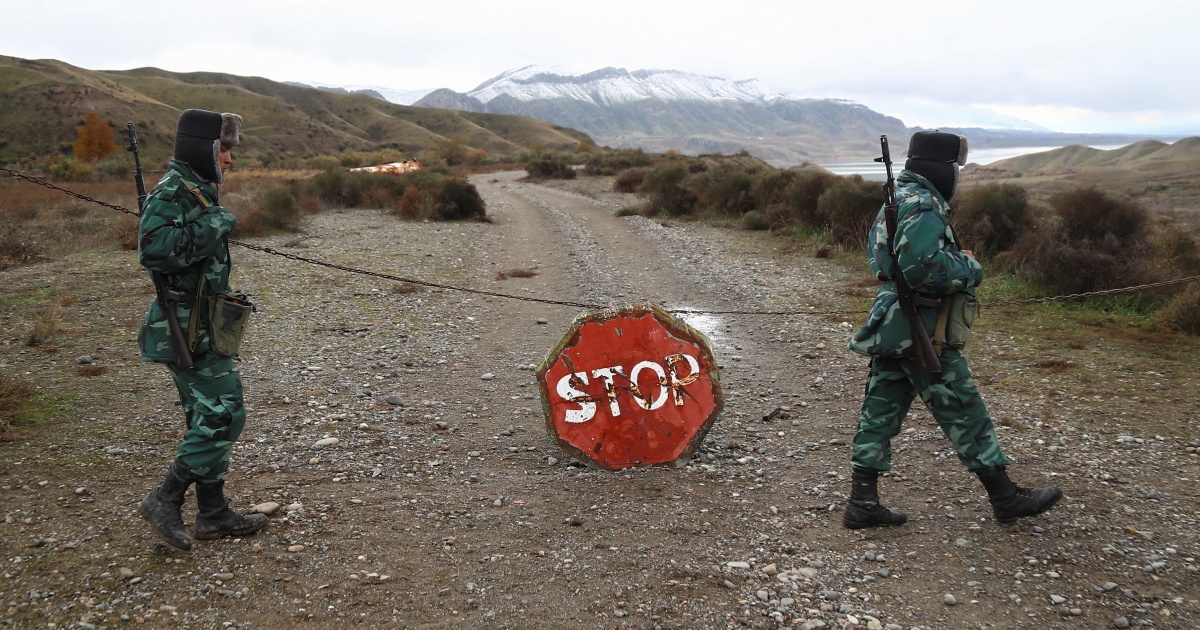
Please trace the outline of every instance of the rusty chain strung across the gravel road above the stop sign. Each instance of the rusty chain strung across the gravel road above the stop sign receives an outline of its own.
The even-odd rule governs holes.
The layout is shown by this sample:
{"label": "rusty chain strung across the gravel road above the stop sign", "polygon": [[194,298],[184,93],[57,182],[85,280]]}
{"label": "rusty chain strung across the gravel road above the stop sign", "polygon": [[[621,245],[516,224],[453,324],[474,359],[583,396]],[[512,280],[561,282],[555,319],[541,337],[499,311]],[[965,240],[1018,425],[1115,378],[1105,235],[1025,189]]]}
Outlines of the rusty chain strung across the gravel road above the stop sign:
{"label": "rusty chain strung across the gravel road above the stop sign", "polygon": [[[36,184],[38,186],[43,186],[46,188],[50,188],[50,190],[54,190],[54,191],[59,191],[59,192],[66,193],[66,194],[68,194],[71,197],[74,197],[77,199],[82,199],[84,202],[89,202],[89,203],[103,205],[104,208],[118,210],[118,211],[125,212],[127,215],[140,216],[139,212],[130,210],[128,208],[124,208],[124,206],[120,206],[120,205],[110,204],[108,202],[102,202],[100,199],[95,199],[95,198],[88,197],[86,194],[80,194],[80,193],[74,192],[74,191],[68,191],[68,190],[62,188],[60,186],[55,186],[55,185],[53,185],[53,184],[50,184],[48,181],[44,181],[44,180],[37,179],[37,178],[26,175],[24,173],[20,173],[19,170],[13,170],[11,168],[0,167],[0,172],[7,173],[8,175],[11,175],[13,178],[17,178],[17,179],[22,179],[22,180],[29,181],[31,184]],[[230,245],[236,245],[239,247],[245,247],[247,250],[253,250],[253,251],[257,251],[257,252],[263,252],[263,253],[266,253],[266,254],[270,254],[270,256],[280,256],[280,257],[288,258],[290,260],[296,260],[296,262],[300,262],[300,263],[307,263],[307,264],[316,265],[316,266],[324,266],[324,268],[328,268],[328,269],[336,269],[338,271],[346,271],[348,274],[359,274],[359,275],[364,275],[364,276],[371,276],[371,277],[377,277],[377,278],[383,278],[383,280],[390,280],[390,281],[395,281],[395,282],[407,282],[409,284],[419,284],[419,286],[422,286],[422,287],[430,287],[430,288],[436,288],[436,289],[455,290],[455,292],[461,292],[461,293],[470,293],[470,294],[474,294],[474,295],[485,295],[485,296],[488,296],[488,298],[502,298],[502,299],[506,299],[506,300],[518,300],[518,301],[527,301],[527,302],[548,304],[548,305],[553,305],[553,306],[570,306],[570,307],[574,307],[574,308],[584,308],[584,310],[608,308],[608,307],[611,307],[611,306],[600,305],[600,304],[577,302],[577,301],[571,301],[571,300],[550,300],[550,299],[546,299],[546,298],[530,298],[530,296],[527,296],[527,295],[512,295],[510,293],[499,293],[499,292],[493,292],[493,290],[472,289],[472,288],[467,288],[467,287],[455,287],[455,286],[451,286],[451,284],[438,284],[436,282],[428,282],[428,281],[415,280],[415,278],[407,278],[407,277],[403,277],[403,276],[396,276],[396,275],[392,275],[392,274],[383,274],[383,272],[379,272],[379,271],[368,271],[366,269],[358,269],[358,268],[354,268],[354,266],[341,265],[341,264],[337,264],[337,263],[329,263],[329,262],[319,260],[319,259],[316,259],[316,258],[306,258],[304,256],[298,256],[298,254],[288,253],[288,252],[281,252],[278,250],[272,250],[271,247],[266,247],[266,246],[263,246],[263,245],[251,245],[248,242],[244,242],[244,241],[239,241],[239,240],[234,240],[234,239],[229,239],[229,244]],[[1087,292],[1087,293],[1072,293],[1069,295],[1052,295],[1052,296],[1048,296],[1048,298],[1026,298],[1026,299],[1020,299],[1020,300],[1006,300],[1006,301],[998,301],[998,302],[991,302],[991,304],[980,302],[979,306],[980,307],[986,307],[986,308],[997,308],[997,307],[1001,307],[1001,306],[1014,306],[1014,305],[1024,305],[1024,304],[1042,304],[1042,302],[1052,302],[1052,301],[1082,300],[1082,299],[1086,299],[1086,298],[1094,298],[1094,296],[1098,296],[1098,295],[1112,295],[1112,294],[1117,294],[1117,293],[1132,293],[1132,292],[1135,292],[1135,290],[1152,289],[1152,288],[1157,288],[1157,287],[1169,287],[1169,286],[1174,286],[1174,284],[1186,284],[1188,282],[1196,282],[1196,281],[1200,281],[1200,276],[1190,276],[1190,277],[1184,277],[1184,278],[1168,280],[1168,281],[1163,281],[1163,282],[1152,282],[1152,283],[1148,283],[1148,284],[1138,284],[1138,286],[1134,286],[1134,287],[1121,287],[1121,288],[1116,288],[1116,289],[1103,289],[1103,290],[1093,290],[1093,292]],[[840,316],[840,314],[862,314],[862,313],[865,313],[868,311],[698,311],[698,310],[667,310],[667,312],[674,313],[674,314],[680,314],[680,316],[690,316],[690,314],[726,314],[726,316],[738,316],[738,314],[740,314],[740,316]]]}

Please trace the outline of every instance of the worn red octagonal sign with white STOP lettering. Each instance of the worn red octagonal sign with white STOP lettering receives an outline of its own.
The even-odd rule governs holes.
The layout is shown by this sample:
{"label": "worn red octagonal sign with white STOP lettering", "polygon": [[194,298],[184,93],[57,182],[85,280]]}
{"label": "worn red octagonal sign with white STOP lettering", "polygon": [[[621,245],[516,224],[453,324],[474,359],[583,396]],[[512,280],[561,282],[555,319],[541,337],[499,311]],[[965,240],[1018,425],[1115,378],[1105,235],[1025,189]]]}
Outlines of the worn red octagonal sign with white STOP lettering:
{"label": "worn red octagonal sign with white STOP lettering", "polygon": [[551,438],[606,470],[684,466],[724,404],[708,340],[648,304],[577,317],[538,386]]}

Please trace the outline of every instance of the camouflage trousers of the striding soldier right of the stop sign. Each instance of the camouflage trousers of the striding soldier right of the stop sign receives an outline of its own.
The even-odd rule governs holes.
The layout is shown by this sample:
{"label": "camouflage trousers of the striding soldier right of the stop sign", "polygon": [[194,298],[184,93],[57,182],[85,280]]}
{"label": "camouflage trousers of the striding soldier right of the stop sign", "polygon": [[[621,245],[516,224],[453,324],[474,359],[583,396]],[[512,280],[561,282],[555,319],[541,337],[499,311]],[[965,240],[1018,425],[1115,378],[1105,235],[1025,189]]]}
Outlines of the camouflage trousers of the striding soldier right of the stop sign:
{"label": "camouflage trousers of the striding soldier right of the stop sign", "polygon": [[954,348],[942,350],[942,372],[922,374],[913,359],[872,359],[863,410],[854,433],[854,468],[892,469],[892,438],[900,433],[919,395],[950,445],[971,472],[1008,466],[996,426],[971,379],[967,360]]}

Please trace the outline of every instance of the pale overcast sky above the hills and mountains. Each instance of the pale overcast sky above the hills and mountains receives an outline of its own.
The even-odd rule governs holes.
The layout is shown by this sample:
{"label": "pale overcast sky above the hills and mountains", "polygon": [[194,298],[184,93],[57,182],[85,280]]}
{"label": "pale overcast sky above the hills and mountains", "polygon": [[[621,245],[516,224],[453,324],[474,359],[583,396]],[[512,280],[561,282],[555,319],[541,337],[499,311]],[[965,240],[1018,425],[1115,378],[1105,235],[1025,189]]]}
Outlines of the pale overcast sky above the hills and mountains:
{"label": "pale overcast sky above the hills and mountains", "polygon": [[[1200,134],[1200,2],[0,0],[0,54],[468,91],[530,64],[679,70],[1055,131]],[[956,122],[956,121],[955,121]]]}

